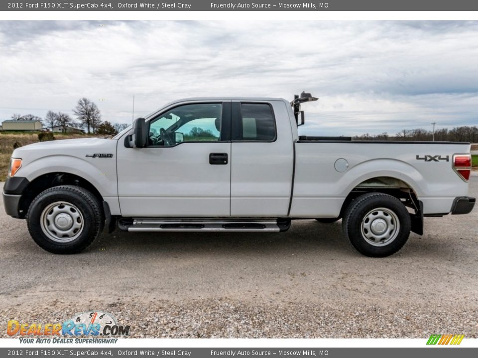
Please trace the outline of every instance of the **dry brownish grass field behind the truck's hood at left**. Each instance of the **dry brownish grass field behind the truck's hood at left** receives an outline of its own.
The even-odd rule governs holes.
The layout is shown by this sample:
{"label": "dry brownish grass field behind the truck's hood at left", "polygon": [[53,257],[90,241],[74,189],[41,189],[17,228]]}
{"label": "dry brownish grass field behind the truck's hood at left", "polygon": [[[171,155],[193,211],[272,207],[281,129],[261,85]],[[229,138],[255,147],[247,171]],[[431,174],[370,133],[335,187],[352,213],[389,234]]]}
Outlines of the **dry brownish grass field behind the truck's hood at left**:
{"label": "dry brownish grass field behind the truck's hood at left", "polygon": [[[38,142],[39,132],[14,132],[0,131],[0,181],[4,181],[8,172],[10,156],[13,152],[13,145],[18,143],[20,146]],[[76,133],[55,133],[55,139],[84,138],[88,134]]]}

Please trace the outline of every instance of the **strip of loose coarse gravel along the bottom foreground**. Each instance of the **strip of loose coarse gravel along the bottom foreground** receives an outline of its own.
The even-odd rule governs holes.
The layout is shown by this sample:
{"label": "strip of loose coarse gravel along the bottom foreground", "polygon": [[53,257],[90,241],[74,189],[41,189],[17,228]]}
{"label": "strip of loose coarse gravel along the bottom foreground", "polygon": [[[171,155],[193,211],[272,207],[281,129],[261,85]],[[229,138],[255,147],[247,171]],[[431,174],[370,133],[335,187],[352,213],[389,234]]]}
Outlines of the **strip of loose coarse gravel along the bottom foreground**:
{"label": "strip of loose coarse gravel along the bottom foreground", "polygon": [[[59,303],[22,312],[10,308],[1,315],[21,322],[57,323],[90,307]],[[102,307],[119,324],[131,326],[131,338],[428,338],[436,332],[478,337],[478,309],[453,306],[381,308],[348,301],[253,304],[219,298],[148,304],[121,300]]]}

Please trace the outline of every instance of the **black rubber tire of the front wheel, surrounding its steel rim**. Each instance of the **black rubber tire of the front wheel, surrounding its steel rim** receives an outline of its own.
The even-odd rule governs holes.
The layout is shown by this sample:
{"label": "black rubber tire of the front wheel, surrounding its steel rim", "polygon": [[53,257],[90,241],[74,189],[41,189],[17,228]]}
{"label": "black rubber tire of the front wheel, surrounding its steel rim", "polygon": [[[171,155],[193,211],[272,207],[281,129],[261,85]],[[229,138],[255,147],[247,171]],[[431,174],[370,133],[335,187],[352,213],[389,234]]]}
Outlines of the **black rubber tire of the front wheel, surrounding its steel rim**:
{"label": "black rubber tire of the front wheel, surrounding its steel rim", "polygon": [[[71,205],[73,207],[72,212],[75,214],[79,212],[80,214],[76,215],[81,215],[79,218],[79,223],[82,225],[81,230],[78,229],[79,232],[72,234],[71,239],[63,239],[71,240],[68,242],[59,242],[58,238],[55,241],[46,233],[50,232],[49,229],[42,229],[43,219],[48,220],[46,213],[42,216],[43,211],[57,202],[65,202],[66,205]],[[62,204],[58,204],[55,208],[61,208],[61,206]],[[64,207],[65,205],[63,205]],[[26,214],[28,231],[33,240],[42,249],[54,254],[75,254],[86,249],[100,235],[104,221],[103,211],[95,195],[82,187],[74,185],[54,186],[42,191],[33,199]],[[49,223],[49,221],[46,222]],[[47,225],[43,224],[43,226]],[[55,231],[52,232],[55,233]],[[50,235],[54,236],[51,232]]]}

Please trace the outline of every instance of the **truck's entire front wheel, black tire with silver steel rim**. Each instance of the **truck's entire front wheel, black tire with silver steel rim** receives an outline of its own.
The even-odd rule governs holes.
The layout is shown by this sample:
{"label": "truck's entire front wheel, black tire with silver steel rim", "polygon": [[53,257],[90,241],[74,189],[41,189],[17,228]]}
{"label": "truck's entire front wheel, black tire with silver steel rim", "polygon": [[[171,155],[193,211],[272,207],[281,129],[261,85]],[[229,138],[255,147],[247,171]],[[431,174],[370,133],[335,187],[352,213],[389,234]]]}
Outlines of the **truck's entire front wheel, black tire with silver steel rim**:
{"label": "truck's entire front wheel, black tire with silver steel rim", "polygon": [[74,185],[42,191],[33,199],[26,221],[33,240],[54,254],[84,250],[99,236],[104,224],[98,199]]}

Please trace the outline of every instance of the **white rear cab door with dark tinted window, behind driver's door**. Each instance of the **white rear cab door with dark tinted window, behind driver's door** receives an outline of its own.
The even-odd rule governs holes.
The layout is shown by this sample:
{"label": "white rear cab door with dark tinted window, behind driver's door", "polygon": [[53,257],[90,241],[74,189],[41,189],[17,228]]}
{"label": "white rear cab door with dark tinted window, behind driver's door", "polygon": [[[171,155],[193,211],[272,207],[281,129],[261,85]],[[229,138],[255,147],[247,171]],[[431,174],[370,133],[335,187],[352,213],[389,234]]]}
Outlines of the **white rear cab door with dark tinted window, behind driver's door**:
{"label": "white rear cab door with dark tinted window, behind driver's door", "polygon": [[231,216],[287,216],[294,147],[283,101],[233,101]]}

